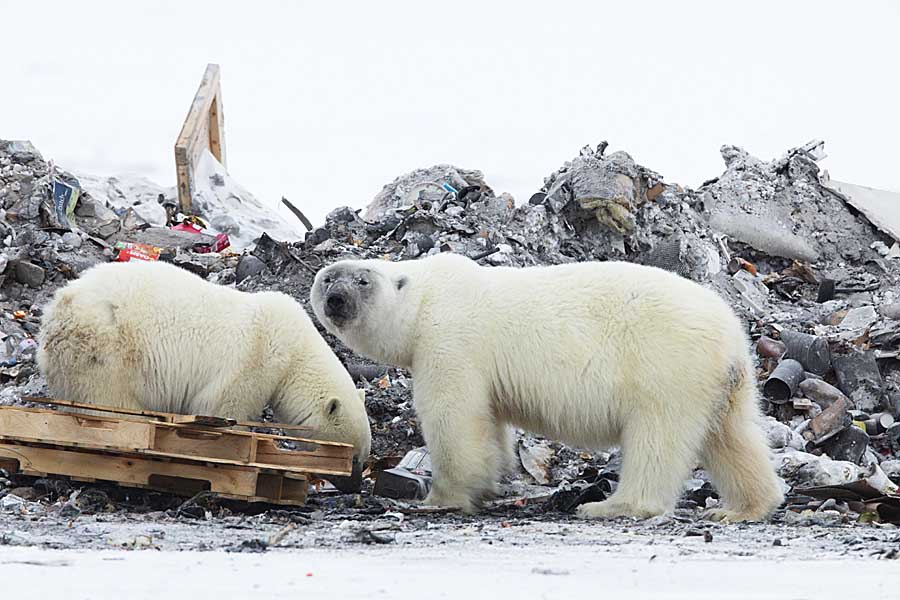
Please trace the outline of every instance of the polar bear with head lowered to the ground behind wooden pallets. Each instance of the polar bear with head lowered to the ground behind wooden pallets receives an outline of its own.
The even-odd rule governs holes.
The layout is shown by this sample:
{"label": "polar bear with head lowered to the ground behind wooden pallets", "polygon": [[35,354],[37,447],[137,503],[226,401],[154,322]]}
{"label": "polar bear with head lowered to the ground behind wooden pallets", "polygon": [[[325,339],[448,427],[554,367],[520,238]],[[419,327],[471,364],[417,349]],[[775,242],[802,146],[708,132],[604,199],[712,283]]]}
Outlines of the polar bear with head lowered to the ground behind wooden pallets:
{"label": "polar bear with head lowered to the ground behind wooden pallets", "polygon": [[[306,311],[159,262],[108,263],[44,310],[37,362],[57,398],[115,407],[275,419],[353,444],[358,489],[371,446],[361,392]],[[336,484],[337,485],[337,484]]]}

